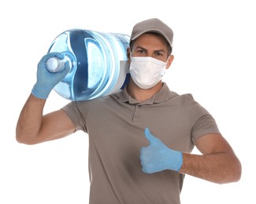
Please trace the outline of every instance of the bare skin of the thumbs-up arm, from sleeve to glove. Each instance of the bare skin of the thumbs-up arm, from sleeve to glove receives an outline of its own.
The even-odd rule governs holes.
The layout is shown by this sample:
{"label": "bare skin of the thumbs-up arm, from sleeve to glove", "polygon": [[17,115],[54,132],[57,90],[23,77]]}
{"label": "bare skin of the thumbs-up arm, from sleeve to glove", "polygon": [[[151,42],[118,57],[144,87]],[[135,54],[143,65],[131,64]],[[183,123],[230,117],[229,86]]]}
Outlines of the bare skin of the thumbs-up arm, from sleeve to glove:
{"label": "bare skin of the thumbs-up arm, from sleeve to glove", "polygon": [[231,146],[221,134],[212,133],[195,142],[202,155],[183,153],[180,173],[209,180],[217,184],[238,181],[242,167]]}

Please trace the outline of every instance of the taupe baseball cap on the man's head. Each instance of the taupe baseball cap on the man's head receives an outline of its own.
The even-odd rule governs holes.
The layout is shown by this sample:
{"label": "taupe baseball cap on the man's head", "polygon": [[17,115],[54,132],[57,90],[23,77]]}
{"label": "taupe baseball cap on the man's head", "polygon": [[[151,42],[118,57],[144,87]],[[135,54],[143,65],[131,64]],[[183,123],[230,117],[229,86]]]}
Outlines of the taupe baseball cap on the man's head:
{"label": "taupe baseball cap on the man's head", "polygon": [[160,34],[167,40],[167,42],[169,42],[169,45],[173,47],[173,30],[157,18],[143,20],[142,22],[135,24],[132,29],[130,45],[133,40],[139,38],[140,35],[143,35],[147,32]]}

